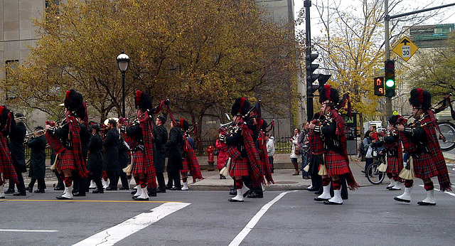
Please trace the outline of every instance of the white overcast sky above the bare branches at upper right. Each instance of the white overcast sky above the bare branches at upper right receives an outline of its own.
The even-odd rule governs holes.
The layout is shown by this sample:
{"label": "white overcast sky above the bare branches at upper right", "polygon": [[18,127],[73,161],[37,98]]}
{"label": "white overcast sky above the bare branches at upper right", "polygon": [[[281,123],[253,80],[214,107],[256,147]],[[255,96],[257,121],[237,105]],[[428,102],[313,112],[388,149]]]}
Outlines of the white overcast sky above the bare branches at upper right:
{"label": "white overcast sky above the bare branches at upper right", "polygon": [[[333,2],[333,1],[341,1],[343,4],[346,6],[346,8],[349,8],[350,6],[360,6],[361,1],[360,0],[353,0],[353,1],[346,1],[346,0],[312,0],[311,3],[311,9],[310,9],[310,14],[311,14],[311,35],[313,33],[319,33],[317,30],[314,30],[314,28],[318,28],[317,26],[314,25],[314,23],[319,22],[318,20],[318,15],[316,11],[316,6],[315,4],[320,3],[323,1],[327,5],[328,2]],[[389,2],[392,0],[389,0]],[[431,3],[433,1],[433,3]],[[412,6],[410,6],[410,3],[412,2]],[[403,1],[399,6],[397,6],[397,9],[401,8],[410,8],[406,12],[410,11],[415,11],[419,9],[428,9],[431,7],[435,6],[441,6],[445,4],[452,4],[454,3],[455,0],[412,0],[412,1]],[[299,11],[301,8],[304,7],[304,0],[294,0],[294,16],[297,18]],[[411,9],[412,8],[412,9]],[[427,12],[427,13],[434,13],[432,12]],[[403,14],[403,13],[395,13],[394,11],[390,11],[390,15],[396,15],[396,14]],[[450,6],[446,7],[444,9],[439,10],[439,14],[435,16],[435,18],[430,18],[427,20],[424,24],[430,25],[430,24],[439,24],[439,23],[455,23],[455,6]],[[305,24],[296,26],[297,29],[304,30]]]}

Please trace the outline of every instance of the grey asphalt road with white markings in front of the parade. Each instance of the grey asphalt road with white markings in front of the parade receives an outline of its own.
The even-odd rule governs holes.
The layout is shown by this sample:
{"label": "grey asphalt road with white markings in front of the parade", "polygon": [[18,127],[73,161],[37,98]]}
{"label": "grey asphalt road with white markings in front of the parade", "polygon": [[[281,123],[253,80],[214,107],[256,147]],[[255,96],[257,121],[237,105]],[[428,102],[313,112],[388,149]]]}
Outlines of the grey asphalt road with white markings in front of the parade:
{"label": "grey asphalt road with white markings in front of the parade", "polygon": [[228,202],[228,191],[168,191],[149,202],[129,191],[71,201],[55,200],[61,191],[7,196],[0,244],[454,245],[455,195],[435,192],[436,206],[419,206],[419,185],[411,203],[382,184],[350,191],[343,205],[317,203],[309,191],[266,191],[243,203]]}

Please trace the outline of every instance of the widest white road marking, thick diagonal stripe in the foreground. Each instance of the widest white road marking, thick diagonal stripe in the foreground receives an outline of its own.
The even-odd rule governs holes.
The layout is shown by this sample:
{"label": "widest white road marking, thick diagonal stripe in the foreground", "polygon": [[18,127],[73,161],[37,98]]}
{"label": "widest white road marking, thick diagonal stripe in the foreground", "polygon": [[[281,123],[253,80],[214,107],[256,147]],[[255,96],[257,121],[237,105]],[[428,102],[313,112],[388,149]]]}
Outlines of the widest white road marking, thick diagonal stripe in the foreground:
{"label": "widest white road marking, thick diagonal stripe in the foreground", "polygon": [[134,232],[142,230],[166,217],[166,215],[170,215],[190,204],[191,203],[164,203],[159,207],[151,209],[151,213],[141,213],[119,225],[115,225],[112,228],[108,228],[91,237],[87,237],[85,240],[77,242],[75,245],[114,245],[114,243],[132,235]]}

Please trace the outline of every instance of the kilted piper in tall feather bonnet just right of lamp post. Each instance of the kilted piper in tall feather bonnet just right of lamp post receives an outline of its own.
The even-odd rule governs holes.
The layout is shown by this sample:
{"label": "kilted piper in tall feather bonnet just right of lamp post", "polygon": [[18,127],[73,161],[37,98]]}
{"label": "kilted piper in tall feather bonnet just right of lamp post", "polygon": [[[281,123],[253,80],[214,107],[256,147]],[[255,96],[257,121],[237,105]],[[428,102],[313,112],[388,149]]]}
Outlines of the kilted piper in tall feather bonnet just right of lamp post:
{"label": "kilted piper in tall feather bonnet just right of lamp post", "polygon": [[[121,132],[126,134],[125,140],[134,137],[137,146],[133,148],[132,175],[139,186],[134,194],[134,200],[149,200],[147,186],[151,189],[151,196],[156,196],[156,174],[154,167],[154,123],[151,118],[150,95],[137,90],[134,104],[136,106],[137,121],[131,126],[122,126]],[[139,182],[138,182],[139,181]]]}

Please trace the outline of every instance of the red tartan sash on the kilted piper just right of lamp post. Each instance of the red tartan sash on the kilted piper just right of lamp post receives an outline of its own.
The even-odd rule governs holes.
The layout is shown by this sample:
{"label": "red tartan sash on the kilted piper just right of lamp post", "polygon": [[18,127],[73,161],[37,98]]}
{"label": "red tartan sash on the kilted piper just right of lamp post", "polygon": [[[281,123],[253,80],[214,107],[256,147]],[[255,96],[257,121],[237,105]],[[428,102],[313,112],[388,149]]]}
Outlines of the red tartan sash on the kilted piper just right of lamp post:
{"label": "red tartan sash on the kilted piper just right of lamp post", "polygon": [[149,118],[148,112],[145,112],[139,117],[139,126],[142,129],[142,136],[144,137],[144,157],[147,167],[147,186],[149,188],[156,188],[156,172],[154,166],[154,127]]}

